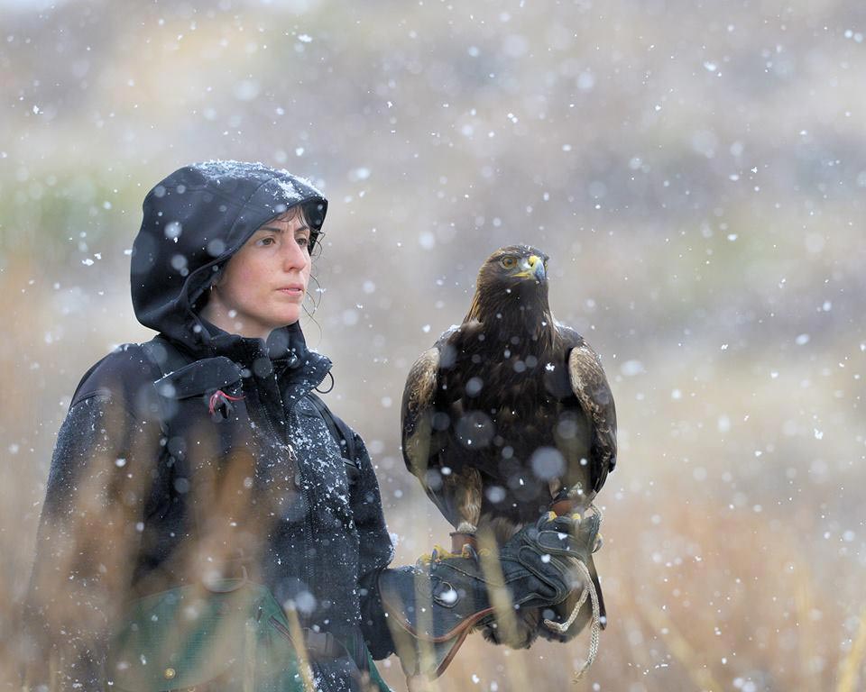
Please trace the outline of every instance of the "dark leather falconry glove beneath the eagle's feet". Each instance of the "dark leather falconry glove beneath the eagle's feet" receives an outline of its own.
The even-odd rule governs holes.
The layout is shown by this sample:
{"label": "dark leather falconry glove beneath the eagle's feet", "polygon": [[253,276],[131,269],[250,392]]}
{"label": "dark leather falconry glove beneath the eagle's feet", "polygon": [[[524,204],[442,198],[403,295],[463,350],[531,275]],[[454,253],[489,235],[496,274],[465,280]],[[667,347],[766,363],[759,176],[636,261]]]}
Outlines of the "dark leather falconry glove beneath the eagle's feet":
{"label": "dark leather falconry glove beneath the eagle's feet", "polygon": [[[515,533],[499,560],[484,550],[480,556],[472,550],[447,557],[434,552],[414,567],[382,571],[382,605],[407,677],[438,678],[473,629],[492,628],[495,641],[509,642],[521,609],[538,608],[549,618],[562,611],[555,606],[575,602],[569,596],[592,589],[586,565],[600,524],[598,514],[583,519],[545,514]],[[576,610],[560,625],[569,634]],[[575,633],[587,619],[578,618]]]}

